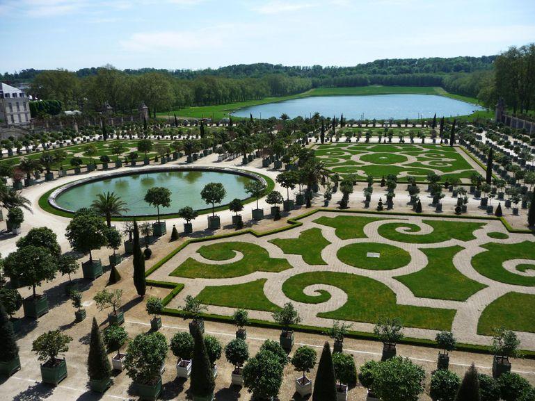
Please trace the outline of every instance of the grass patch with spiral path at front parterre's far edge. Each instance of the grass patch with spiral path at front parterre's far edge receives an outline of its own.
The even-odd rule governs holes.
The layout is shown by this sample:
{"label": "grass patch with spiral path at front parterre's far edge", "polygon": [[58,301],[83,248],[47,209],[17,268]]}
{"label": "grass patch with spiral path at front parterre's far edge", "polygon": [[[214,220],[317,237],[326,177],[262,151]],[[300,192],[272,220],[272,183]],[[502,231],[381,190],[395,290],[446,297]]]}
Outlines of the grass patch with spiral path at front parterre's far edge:
{"label": "grass patch with spiral path at front parterre's far edge", "polygon": [[[474,230],[477,230],[486,224],[484,222],[454,222],[449,220],[422,220],[422,222],[433,227],[431,234],[406,234],[406,232],[420,232],[419,226],[408,222],[383,224],[378,228],[377,232],[383,238],[399,241],[401,243],[431,244],[441,243],[442,241],[451,239],[457,239],[461,241],[473,240],[475,238],[473,234]],[[407,228],[406,232],[400,233],[396,231],[398,227]]]}

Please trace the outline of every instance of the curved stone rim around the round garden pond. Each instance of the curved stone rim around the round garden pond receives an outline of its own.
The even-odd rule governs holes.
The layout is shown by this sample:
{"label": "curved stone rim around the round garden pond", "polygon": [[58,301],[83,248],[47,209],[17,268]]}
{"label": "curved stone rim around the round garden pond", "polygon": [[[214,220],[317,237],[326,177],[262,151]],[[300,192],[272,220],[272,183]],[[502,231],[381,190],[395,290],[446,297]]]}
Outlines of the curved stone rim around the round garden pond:
{"label": "curved stone rim around the round garden pond", "polygon": [[[233,167],[211,167],[211,166],[162,166],[162,167],[154,167],[150,170],[147,170],[146,168],[136,168],[133,170],[128,171],[122,171],[122,172],[111,172],[109,174],[102,174],[97,177],[87,177],[83,179],[78,179],[76,181],[72,181],[70,183],[66,183],[63,186],[59,186],[58,188],[55,188],[52,190],[52,192],[47,197],[47,205],[51,206],[53,210],[48,210],[50,213],[54,213],[54,211],[57,212],[63,212],[63,213],[69,213],[74,215],[75,211],[70,210],[69,208],[65,208],[63,206],[60,206],[56,199],[58,197],[65,193],[67,190],[70,190],[72,188],[75,188],[77,186],[83,186],[88,183],[93,183],[97,181],[104,181],[109,180],[117,177],[129,177],[136,174],[152,174],[152,173],[159,173],[159,172],[216,172],[216,173],[223,173],[223,174],[234,174],[239,175],[241,177],[246,177],[248,179],[254,179],[257,181],[260,181],[266,186],[266,188],[269,188],[269,181],[272,181],[269,179],[269,177],[265,177],[262,174],[257,174],[255,172],[250,172],[246,170],[240,170]],[[155,186],[157,186],[157,183],[155,183]],[[46,195],[46,194],[45,194]],[[253,197],[246,197],[244,199],[241,199],[243,203],[253,202],[255,198]],[[222,207],[226,206],[227,204],[220,204],[216,206],[216,211],[219,209],[221,210]],[[83,207],[83,206],[80,206]],[[206,208],[198,208],[195,209],[200,214],[207,213],[208,211],[211,211],[211,206],[207,205]],[[178,211],[173,211],[170,213],[162,213],[160,211],[160,217],[178,217],[177,216]],[[58,213],[56,213],[58,214]],[[72,217],[72,216],[70,216]],[[156,218],[156,213],[141,213],[141,214],[134,214],[129,213],[127,215],[114,215],[113,218],[150,218],[154,217]]]}

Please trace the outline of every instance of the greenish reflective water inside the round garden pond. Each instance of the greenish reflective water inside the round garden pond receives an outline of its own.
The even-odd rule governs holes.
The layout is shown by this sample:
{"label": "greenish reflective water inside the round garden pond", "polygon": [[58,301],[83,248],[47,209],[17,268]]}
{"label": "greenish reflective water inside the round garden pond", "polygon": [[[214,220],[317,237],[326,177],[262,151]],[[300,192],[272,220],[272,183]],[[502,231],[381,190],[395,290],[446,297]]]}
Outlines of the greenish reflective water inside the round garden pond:
{"label": "greenish reflective water inside the round garden pond", "polygon": [[155,215],[156,208],[147,204],[143,198],[149,188],[163,186],[171,191],[171,206],[160,207],[160,213],[177,213],[184,206],[197,210],[211,207],[200,197],[200,191],[207,183],[223,183],[227,195],[221,204],[227,204],[234,198],[246,199],[248,195],[243,186],[252,180],[250,177],[229,172],[146,172],[82,183],[60,193],[56,197],[56,204],[67,210],[77,211],[79,208],[89,207],[97,194],[110,191],[127,203],[130,210],[122,213],[123,215]]}

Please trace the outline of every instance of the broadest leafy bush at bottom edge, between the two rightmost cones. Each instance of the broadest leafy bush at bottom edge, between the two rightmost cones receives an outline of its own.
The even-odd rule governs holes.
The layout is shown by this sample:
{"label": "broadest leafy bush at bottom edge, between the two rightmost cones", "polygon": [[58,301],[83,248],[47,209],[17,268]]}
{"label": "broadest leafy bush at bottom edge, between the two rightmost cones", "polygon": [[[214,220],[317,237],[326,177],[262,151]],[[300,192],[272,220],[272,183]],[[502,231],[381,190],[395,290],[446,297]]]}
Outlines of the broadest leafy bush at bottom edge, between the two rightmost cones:
{"label": "broadest leafy bush at bottom edge, between the two rightmost cones", "polygon": [[425,372],[408,358],[394,357],[374,369],[372,391],[383,401],[417,401],[424,392]]}

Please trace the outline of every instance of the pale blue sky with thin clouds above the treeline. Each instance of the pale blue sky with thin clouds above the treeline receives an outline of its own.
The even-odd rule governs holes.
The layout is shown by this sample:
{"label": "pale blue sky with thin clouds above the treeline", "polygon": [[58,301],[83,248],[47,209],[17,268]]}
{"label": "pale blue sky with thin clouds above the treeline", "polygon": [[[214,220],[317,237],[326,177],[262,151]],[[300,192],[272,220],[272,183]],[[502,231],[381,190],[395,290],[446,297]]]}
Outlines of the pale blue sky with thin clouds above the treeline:
{"label": "pale blue sky with thin clouds above the treeline", "polygon": [[356,65],[535,41],[535,1],[0,0],[0,70]]}

